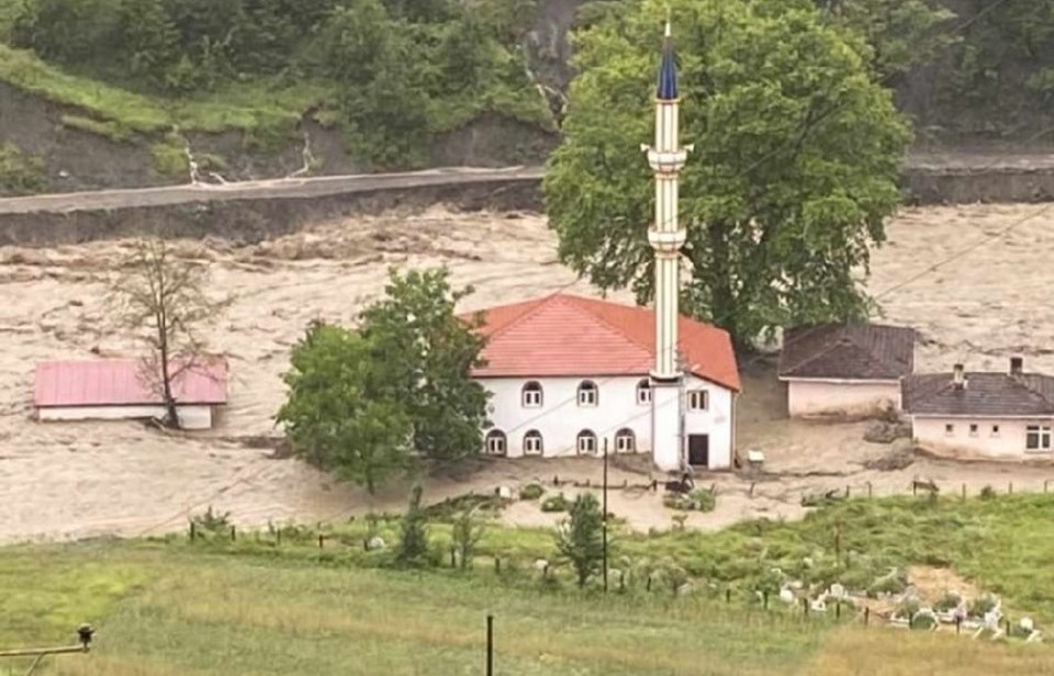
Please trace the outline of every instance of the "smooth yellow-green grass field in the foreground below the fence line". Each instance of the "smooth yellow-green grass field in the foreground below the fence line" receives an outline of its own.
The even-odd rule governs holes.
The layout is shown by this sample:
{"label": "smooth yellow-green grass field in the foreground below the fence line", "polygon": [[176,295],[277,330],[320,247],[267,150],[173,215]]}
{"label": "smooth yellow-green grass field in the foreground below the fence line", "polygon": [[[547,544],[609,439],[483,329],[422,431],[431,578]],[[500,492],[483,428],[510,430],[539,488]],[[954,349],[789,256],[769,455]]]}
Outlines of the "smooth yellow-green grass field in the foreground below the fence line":
{"label": "smooth yellow-green grass field in the foreground below the fence line", "polygon": [[[4,645],[71,642],[90,655],[48,673],[481,674],[485,616],[495,673],[1035,674],[1036,645],[871,628],[730,608],[702,597],[551,592],[473,576],[332,567],[158,544],[79,544],[0,554]],[[22,674],[21,662],[0,674]],[[935,671],[934,671],[935,669]]]}

